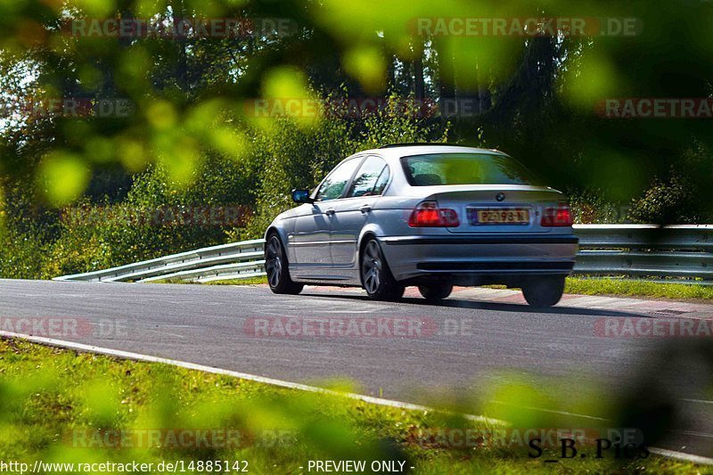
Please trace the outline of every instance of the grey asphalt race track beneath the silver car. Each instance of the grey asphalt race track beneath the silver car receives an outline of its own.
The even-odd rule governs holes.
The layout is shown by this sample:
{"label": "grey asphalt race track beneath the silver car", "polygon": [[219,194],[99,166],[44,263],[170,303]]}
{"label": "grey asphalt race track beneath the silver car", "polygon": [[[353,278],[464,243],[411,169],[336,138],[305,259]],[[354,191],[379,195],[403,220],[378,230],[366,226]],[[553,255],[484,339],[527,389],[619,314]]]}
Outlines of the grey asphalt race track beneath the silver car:
{"label": "grey asphalt race track beneath the silver car", "polygon": [[[649,372],[648,381],[676,400],[680,414],[660,446],[713,456],[713,379],[705,362],[690,354],[657,358],[664,340],[674,339],[601,334],[611,319],[671,316],[567,307],[566,300],[535,311],[457,295],[428,305],[417,298],[372,302],[354,291],[309,287],[299,296],[276,296],[253,286],[19,280],[0,281],[0,302],[0,330],[15,330],[22,319],[59,319],[71,328],[39,336],[284,381],[348,379],[363,394],[427,405],[438,405],[444,395],[476,396],[508,378],[559,384],[566,392],[560,396],[574,402],[592,391],[643,401],[652,393],[636,392],[641,380],[635,375]],[[318,325],[325,319],[347,326],[324,330]],[[381,326],[365,326],[374,321]],[[27,325],[20,330],[41,332]],[[691,339],[678,340],[693,348]],[[564,405],[561,411],[570,413],[564,414],[569,427],[601,423],[595,411],[579,414]]]}

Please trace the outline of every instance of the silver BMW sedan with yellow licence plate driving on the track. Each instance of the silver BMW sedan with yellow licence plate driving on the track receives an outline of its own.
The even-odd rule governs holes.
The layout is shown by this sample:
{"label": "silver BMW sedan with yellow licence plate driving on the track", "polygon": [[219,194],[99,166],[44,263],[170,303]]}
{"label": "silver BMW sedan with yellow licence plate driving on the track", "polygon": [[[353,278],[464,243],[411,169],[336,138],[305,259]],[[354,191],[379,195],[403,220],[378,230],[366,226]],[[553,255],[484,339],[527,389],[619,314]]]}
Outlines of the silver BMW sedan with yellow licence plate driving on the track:
{"label": "silver BMW sedan with yellow licence plate driving on the track", "polygon": [[504,152],[397,144],[340,162],[297,208],[266,230],[270,289],[361,286],[400,299],[418,286],[446,299],[454,285],[521,288],[535,307],[556,304],[578,240],[561,192]]}

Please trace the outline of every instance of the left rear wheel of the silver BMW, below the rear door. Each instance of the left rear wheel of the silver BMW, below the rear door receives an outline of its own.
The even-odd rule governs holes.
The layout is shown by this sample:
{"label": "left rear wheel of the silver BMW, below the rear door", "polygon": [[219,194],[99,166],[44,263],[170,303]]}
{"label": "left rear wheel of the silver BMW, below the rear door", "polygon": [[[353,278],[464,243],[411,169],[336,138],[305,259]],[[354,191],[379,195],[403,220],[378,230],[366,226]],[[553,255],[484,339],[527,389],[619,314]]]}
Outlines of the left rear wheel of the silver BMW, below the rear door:
{"label": "left rear wheel of the silver BMW, below the rear door", "polygon": [[365,242],[360,256],[359,274],[369,299],[397,300],[404,296],[406,287],[394,279],[381,246],[374,238],[368,238]]}

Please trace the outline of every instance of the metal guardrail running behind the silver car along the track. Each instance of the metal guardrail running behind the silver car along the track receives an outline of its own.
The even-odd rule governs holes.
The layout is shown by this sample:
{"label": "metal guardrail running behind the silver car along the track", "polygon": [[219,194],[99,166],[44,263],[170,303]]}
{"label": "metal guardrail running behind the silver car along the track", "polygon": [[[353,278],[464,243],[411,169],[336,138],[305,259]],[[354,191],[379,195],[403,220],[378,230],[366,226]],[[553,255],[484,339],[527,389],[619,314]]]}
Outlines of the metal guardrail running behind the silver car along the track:
{"label": "metal guardrail running behind the silver car along the track", "polygon": [[[575,274],[635,278],[713,279],[713,225],[575,225]],[[128,264],[55,277],[57,281],[211,282],[265,275],[265,240],[234,242]],[[686,278],[689,280],[683,280]]]}

